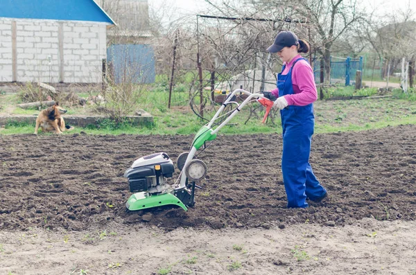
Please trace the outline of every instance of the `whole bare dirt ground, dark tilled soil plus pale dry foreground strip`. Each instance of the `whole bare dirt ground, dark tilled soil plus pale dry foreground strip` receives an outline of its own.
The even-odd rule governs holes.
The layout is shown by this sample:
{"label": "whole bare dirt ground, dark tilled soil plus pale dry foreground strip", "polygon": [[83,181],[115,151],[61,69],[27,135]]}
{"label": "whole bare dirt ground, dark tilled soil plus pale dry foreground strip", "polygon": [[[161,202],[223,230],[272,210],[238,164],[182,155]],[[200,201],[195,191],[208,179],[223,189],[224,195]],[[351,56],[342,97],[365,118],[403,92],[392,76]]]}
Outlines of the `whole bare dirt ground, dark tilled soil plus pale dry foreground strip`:
{"label": "whole bare dirt ground, dark tilled soil plus pale dry foreground strip", "polygon": [[309,209],[285,208],[279,134],[219,136],[195,207],[126,213],[125,169],[193,136],[0,135],[0,272],[415,274],[415,136],[315,135]]}

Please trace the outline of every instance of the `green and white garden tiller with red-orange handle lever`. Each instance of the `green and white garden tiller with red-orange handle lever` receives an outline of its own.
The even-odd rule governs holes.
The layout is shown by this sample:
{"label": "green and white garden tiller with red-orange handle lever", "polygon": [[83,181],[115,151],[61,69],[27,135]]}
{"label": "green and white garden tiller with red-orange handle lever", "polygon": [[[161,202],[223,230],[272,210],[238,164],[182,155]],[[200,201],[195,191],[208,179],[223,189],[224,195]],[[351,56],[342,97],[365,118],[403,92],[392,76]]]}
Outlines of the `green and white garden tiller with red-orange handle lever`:
{"label": "green and white garden tiller with red-orange handle lever", "polygon": [[[236,94],[245,94],[247,98],[239,104],[236,102]],[[183,152],[177,157],[176,166],[180,175],[173,184],[168,184],[167,179],[173,177],[173,161],[165,152],[149,154],[137,159],[124,177],[128,178],[130,192],[133,194],[125,206],[130,211],[149,209],[157,206],[174,204],[187,211],[187,206],[195,204],[195,189],[207,174],[207,165],[195,158],[198,149],[206,148],[207,141],[213,141],[218,131],[224,127],[240,110],[249,102],[257,100],[266,107],[263,123],[273,106],[273,101],[264,94],[252,94],[243,89],[236,89],[227,96],[223,105],[218,109],[214,117],[204,125],[193,139],[189,152]],[[225,112],[227,106],[236,104],[236,108]],[[222,113],[225,114],[222,114]],[[215,123],[216,121],[219,121]],[[215,128],[215,129],[214,129]]]}

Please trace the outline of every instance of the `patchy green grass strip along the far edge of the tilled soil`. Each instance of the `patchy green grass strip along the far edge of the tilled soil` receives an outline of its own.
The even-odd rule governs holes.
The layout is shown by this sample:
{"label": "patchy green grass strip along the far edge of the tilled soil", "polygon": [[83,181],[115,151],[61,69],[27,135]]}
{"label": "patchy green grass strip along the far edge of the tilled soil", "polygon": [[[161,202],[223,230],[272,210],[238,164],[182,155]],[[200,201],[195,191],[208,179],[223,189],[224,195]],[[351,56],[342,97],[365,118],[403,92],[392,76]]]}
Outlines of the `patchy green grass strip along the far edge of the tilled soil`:
{"label": "patchy green grass strip along the far edge of the tilled soil", "polygon": [[[156,86],[157,87],[157,86]],[[155,87],[153,87],[155,88]],[[373,89],[359,92],[352,87],[338,87],[331,91],[333,95],[373,94]],[[315,133],[347,132],[378,129],[381,127],[416,124],[416,93],[410,89],[404,94],[399,89],[392,92],[392,98],[363,98],[361,100],[318,100],[315,104]],[[141,127],[132,127],[129,123],[115,125],[104,119],[98,126],[79,128],[64,134],[85,132],[87,134],[196,134],[207,121],[198,118],[188,106],[188,91],[175,91],[172,96],[172,107],[168,109],[166,91],[147,90],[137,99],[138,107],[152,114],[154,122]],[[198,100],[197,100],[198,101]],[[18,103],[16,95],[0,95],[0,112],[10,105]],[[254,103],[257,104],[258,103]],[[234,105],[235,107],[235,105]],[[218,108],[218,106],[216,107]],[[67,114],[83,114],[85,108],[67,107]],[[36,114],[37,110],[16,108],[13,114]],[[205,112],[205,118],[214,116],[215,110]],[[262,124],[264,112],[257,112],[248,123],[250,108],[245,107],[234,116],[219,134],[280,134],[279,114],[275,114],[275,125],[270,118]],[[32,134],[34,123],[8,123],[0,129],[0,134]],[[40,132],[40,134],[45,134]]]}

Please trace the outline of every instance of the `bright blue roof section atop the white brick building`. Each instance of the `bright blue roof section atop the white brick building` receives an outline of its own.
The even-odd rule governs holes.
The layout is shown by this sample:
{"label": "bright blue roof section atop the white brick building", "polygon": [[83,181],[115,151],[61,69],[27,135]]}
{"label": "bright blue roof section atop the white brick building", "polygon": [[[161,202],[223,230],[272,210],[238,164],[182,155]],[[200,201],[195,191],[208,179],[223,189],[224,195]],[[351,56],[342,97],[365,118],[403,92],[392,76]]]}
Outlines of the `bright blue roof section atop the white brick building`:
{"label": "bright blue roof section atop the white brick building", "polygon": [[94,0],[0,0],[0,17],[65,21],[114,21]]}

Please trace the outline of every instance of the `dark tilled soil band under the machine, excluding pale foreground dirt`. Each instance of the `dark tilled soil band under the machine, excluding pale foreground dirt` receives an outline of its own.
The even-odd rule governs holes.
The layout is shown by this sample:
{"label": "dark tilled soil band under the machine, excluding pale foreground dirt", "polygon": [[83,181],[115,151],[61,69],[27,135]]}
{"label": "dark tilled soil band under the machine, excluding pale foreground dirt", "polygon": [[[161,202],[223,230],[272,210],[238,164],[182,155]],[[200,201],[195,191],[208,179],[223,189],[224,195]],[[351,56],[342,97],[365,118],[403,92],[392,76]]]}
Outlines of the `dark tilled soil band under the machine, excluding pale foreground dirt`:
{"label": "dark tilled soil band under the machine, excluding pale foreground dirt", "polygon": [[80,231],[116,222],[169,231],[416,220],[415,136],[416,125],[316,134],[310,163],[330,199],[308,209],[286,209],[280,134],[218,136],[198,156],[208,172],[193,208],[128,213],[124,171],[154,152],[175,163],[193,136],[0,135],[0,228]]}

